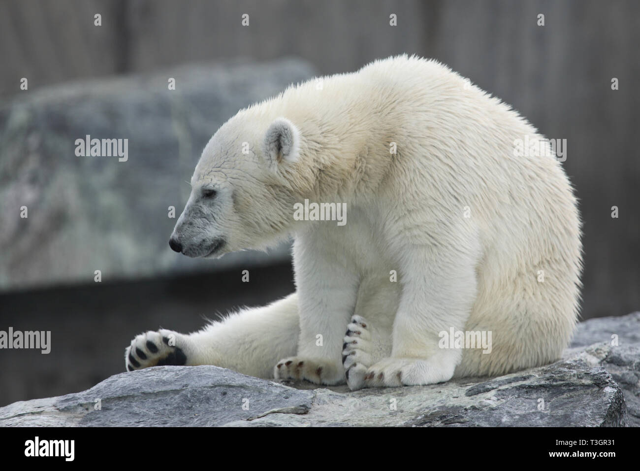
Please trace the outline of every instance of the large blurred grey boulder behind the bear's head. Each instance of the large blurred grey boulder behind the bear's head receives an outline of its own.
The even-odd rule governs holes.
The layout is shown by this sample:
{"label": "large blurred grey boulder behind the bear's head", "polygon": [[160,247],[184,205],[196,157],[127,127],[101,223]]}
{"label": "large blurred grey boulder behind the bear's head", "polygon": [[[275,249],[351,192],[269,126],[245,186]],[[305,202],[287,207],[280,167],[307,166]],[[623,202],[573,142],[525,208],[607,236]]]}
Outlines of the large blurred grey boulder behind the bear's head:
{"label": "large blurred grey boulder behind the bear's head", "polygon": [[[0,245],[11,247],[0,252],[0,290],[92,282],[94,270],[107,281],[272,262],[257,252],[216,263],[173,253],[168,207],[180,214],[195,163],[223,122],[312,75],[292,59],[191,65],[0,104]],[[76,156],[86,135],[128,139],[128,160]],[[286,247],[275,253],[287,256]]]}

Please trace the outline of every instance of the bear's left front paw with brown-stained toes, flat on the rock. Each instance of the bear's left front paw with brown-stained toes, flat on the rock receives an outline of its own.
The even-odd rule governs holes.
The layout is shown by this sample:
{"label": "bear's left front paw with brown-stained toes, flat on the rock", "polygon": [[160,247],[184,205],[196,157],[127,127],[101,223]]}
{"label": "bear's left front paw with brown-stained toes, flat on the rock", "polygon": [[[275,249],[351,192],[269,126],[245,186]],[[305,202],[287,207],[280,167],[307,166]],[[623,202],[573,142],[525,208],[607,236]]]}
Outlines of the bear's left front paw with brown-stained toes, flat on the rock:
{"label": "bear's left front paw with brown-stained toes, flat on the rock", "polygon": [[344,368],[340,361],[292,356],[281,359],[273,368],[275,379],[305,379],[315,384],[344,383]]}

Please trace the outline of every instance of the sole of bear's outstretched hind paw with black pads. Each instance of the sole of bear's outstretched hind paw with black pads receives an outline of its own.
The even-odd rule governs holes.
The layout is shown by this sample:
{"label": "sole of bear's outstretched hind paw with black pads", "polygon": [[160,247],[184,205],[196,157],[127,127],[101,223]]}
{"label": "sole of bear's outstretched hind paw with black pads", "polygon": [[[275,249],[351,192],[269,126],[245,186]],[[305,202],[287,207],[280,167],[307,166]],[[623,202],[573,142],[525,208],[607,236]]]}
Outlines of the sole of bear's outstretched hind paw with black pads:
{"label": "sole of bear's outstretched hind paw with black pads", "polygon": [[161,329],[136,336],[125,349],[127,371],[163,365],[186,365],[187,356],[179,347],[181,334]]}

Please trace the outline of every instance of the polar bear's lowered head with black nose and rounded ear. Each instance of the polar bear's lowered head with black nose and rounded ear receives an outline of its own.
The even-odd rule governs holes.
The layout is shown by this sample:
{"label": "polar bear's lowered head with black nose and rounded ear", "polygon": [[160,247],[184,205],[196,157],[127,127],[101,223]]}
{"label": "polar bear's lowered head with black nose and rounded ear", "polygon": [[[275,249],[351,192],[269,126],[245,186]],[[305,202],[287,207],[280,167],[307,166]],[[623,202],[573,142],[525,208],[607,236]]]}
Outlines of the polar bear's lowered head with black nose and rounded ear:
{"label": "polar bear's lowered head with black nose and rounded ear", "polygon": [[[300,201],[300,131],[288,119],[238,113],[205,146],[169,245],[190,257],[266,249],[285,238]],[[296,188],[298,186],[298,188]]]}

